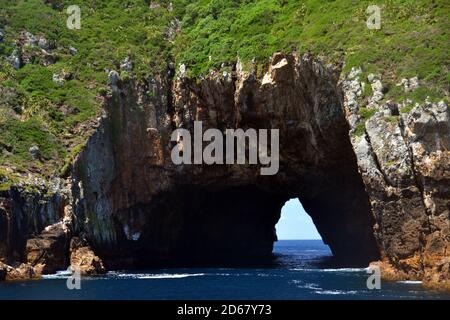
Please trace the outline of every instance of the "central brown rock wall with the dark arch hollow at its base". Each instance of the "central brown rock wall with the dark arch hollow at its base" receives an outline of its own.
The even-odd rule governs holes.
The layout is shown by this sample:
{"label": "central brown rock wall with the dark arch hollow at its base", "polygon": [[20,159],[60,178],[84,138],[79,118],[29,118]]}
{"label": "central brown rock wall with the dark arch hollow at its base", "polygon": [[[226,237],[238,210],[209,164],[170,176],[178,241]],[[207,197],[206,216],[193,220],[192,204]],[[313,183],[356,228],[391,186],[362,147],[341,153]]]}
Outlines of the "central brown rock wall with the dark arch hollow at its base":
{"label": "central brown rock wall with the dark arch hollow at its base", "polygon": [[[338,79],[308,56],[242,72],[117,83],[76,162],[75,216],[109,267],[270,257],[283,204],[298,197],[345,264],[379,258],[369,197]],[[276,175],[261,165],[174,165],[171,134],[279,129]]]}

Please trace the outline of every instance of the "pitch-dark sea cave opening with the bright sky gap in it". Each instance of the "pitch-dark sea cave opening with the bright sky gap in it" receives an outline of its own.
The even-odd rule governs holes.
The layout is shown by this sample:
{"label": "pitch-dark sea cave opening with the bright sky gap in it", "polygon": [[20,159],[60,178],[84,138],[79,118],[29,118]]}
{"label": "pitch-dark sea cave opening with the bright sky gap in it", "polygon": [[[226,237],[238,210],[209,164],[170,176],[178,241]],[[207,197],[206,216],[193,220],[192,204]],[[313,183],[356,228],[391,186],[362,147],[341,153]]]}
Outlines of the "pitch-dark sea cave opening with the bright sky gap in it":
{"label": "pitch-dark sea cave opening with the bright sky gap in it", "polygon": [[[264,184],[178,186],[150,205],[132,210],[132,219],[125,221],[146,223],[139,240],[128,244],[145,266],[262,265],[273,257],[277,239],[286,238],[277,237],[276,228],[286,218],[282,208],[287,205],[297,218],[304,219],[298,226],[293,224],[291,231],[303,234],[303,239],[323,239],[337,258],[336,264],[367,266],[377,258],[367,217],[339,206],[335,201],[342,195],[309,199],[291,196],[287,190]],[[305,225],[310,228],[308,233]]]}

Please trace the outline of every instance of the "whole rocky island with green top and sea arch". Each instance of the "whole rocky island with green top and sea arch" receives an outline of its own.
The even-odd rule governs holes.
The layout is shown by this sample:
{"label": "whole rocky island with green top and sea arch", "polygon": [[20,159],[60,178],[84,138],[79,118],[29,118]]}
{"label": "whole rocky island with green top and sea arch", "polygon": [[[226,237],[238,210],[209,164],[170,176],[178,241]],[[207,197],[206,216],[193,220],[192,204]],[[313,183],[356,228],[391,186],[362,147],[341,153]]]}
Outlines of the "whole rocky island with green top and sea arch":
{"label": "whole rocky island with green top and sea arch", "polygon": [[[143,30],[149,42],[138,34],[127,40],[131,49],[117,45],[113,52],[123,40],[120,21],[109,22],[111,40],[97,35],[100,46],[89,32],[102,15],[122,11],[86,4],[92,15],[71,38],[74,31],[61,31],[62,1],[31,2],[28,14],[46,16],[54,27],[41,21],[31,28],[17,16],[26,2],[0,1],[0,280],[68,267],[95,275],[257,261],[272,253],[282,206],[298,198],[340,264],[372,263],[385,279],[450,290],[450,109],[442,80],[448,56],[436,58],[442,71],[434,77],[410,66],[422,63],[411,60],[426,48],[445,46],[445,1],[426,13],[405,7],[401,21],[418,21],[424,34],[417,37],[427,37],[427,28],[436,36],[420,54],[406,50],[398,70],[385,64],[392,56],[380,54],[379,64],[355,59],[350,51],[359,49],[350,42],[338,56],[327,55],[319,38],[308,50],[280,43],[261,52],[265,57],[257,48],[230,57],[211,49],[195,61],[189,54],[210,44],[205,35],[192,38],[192,30],[211,23],[213,34],[208,19],[227,12],[215,6],[231,1],[212,1],[206,12],[194,1],[196,16],[184,1],[132,2],[125,17],[145,18],[153,33]],[[271,17],[272,28],[277,14],[291,11],[292,19],[301,16],[302,34],[313,23],[314,6],[268,2],[273,12],[254,10]],[[361,8],[354,9],[365,28]],[[239,9],[234,19],[242,20],[248,8]],[[342,21],[343,30],[352,28]],[[409,35],[395,21],[379,31],[383,37]],[[361,37],[372,41],[374,32]],[[278,129],[279,172],[175,165],[171,134],[192,132],[195,121],[204,130]]]}

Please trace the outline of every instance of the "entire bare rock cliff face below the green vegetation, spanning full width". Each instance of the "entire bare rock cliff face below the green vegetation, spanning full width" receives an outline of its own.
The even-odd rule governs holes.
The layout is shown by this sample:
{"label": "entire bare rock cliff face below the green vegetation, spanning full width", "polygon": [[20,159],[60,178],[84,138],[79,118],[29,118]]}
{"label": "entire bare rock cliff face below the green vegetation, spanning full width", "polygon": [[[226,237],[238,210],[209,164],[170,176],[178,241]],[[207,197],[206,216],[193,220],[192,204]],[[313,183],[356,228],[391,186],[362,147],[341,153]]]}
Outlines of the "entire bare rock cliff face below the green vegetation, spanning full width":
{"label": "entire bare rock cliff face below the green vegetation, spanning full width", "polygon": [[[297,197],[343,264],[381,258],[386,276],[448,285],[445,104],[401,115],[391,104],[373,105],[361,134],[353,99],[357,75],[339,79],[339,72],[309,56],[282,54],[262,77],[238,64],[230,74],[200,81],[135,83],[114,72],[110,81],[105,114],[67,181],[65,210],[42,225],[64,216],[65,222],[59,229],[12,233],[31,238],[19,252],[28,252],[32,266],[47,265],[50,272],[49,261],[56,260],[79,267],[77,252],[86,251],[94,257],[85,269],[104,271],[90,247],[106,268],[264,258],[272,251],[281,207]],[[176,128],[192,132],[194,121],[203,121],[204,130],[279,129],[279,173],[261,176],[257,165],[175,166],[170,135]],[[3,222],[14,212],[11,206],[23,209],[12,196],[4,203],[2,235],[11,229]],[[90,247],[69,246],[73,236]],[[33,254],[38,248],[43,252]],[[8,245],[2,250],[11,251]],[[60,251],[64,255],[51,258]]]}

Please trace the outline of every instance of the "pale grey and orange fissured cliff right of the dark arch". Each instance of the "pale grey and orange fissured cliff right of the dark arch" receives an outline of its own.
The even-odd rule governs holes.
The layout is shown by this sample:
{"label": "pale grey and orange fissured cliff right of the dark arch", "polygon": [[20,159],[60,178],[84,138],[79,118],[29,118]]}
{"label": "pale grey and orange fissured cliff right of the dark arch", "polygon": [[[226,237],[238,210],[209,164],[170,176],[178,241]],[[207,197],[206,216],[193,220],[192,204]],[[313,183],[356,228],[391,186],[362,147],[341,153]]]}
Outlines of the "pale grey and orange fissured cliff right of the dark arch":
{"label": "pale grey and orange fissured cliff right of the dark arch", "polygon": [[354,97],[364,79],[358,70],[352,73],[351,79],[343,81],[345,107],[376,221],[381,267],[387,278],[423,279],[430,286],[440,283],[448,289],[449,108],[444,102],[425,102],[405,110],[394,102],[372,100],[374,115],[365,123],[364,132],[357,134],[360,108]]}

